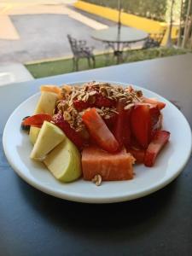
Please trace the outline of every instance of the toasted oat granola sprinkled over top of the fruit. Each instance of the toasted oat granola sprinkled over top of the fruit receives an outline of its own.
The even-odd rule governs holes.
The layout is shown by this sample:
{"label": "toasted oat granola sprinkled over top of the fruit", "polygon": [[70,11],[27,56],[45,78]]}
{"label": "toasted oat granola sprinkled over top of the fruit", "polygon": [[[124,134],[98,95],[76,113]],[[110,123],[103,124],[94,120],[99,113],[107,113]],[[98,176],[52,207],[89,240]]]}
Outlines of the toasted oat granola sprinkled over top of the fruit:
{"label": "toasted oat granola sprinkled over top of the fruit", "polygon": [[63,118],[75,131],[84,130],[82,115],[87,108],[79,111],[75,108],[74,102],[83,102],[86,107],[91,107],[94,106],[98,95],[114,102],[110,107],[95,107],[102,119],[110,119],[118,113],[116,108],[118,101],[125,102],[126,110],[131,109],[136,102],[143,102],[142,91],[133,90],[131,85],[124,88],[121,85],[93,81],[79,86],[63,85],[61,89],[63,98],[57,102],[55,112],[61,112]]}

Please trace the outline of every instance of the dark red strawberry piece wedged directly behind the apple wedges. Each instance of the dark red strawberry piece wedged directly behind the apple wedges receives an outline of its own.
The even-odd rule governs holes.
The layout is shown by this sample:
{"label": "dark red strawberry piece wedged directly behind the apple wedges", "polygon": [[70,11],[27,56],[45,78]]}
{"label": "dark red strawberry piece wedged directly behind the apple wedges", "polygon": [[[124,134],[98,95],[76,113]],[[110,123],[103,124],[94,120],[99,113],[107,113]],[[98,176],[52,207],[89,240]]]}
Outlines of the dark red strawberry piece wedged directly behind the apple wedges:
{"label": "dark red strawberry piece wedged directly behind the apple wedges", "polygon": [[87,141],[63,119],[61,112],[53,116],[53,121],[79,149],[87,145]]}

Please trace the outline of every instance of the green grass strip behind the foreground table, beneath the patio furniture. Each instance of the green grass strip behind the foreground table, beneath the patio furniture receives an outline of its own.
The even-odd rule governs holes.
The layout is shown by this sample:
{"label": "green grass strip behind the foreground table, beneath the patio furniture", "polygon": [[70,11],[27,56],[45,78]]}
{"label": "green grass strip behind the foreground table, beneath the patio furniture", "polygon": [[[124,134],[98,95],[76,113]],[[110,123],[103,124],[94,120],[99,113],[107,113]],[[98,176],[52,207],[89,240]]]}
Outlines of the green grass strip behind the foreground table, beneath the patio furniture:
{"label": "green grass strip behind the foreground table, beneath the patio furniture", "polygon": [[[143,61],[170,55],[181,55],[189,52],[186,49],[175,48],[154,48],[154,49],[137,49],[129,51],[125,62]],[[96,55],[96,67],[106,67],[116,64],[113,55],[108,56],[109,60],[106,65],[106,55]],[[35,79],[54,76],[63,73],[72,73],[73,61],[72,59],[63,59],[59,61],[44,61],[34,64],[26,64],[26,68]],[[89,69],[86,59],[79,61],[79,70]]]}

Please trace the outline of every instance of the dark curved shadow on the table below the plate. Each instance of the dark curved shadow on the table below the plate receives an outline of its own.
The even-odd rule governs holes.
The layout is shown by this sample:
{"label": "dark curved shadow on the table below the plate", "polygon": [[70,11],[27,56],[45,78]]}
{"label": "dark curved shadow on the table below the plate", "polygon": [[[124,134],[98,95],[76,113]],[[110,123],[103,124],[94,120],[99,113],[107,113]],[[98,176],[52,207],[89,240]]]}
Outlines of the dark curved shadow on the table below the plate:
{"label": "dark curved shadow on the table below the plate", "polygon": [[[127,240],[134,236],[145,236],[150,230],[156,229],[170,211],[177,189],[175,180],[166,188],[135,201],[98,205],[57,199],[33,189],[20,178],[18,183],[26,204],[49,224],[54,224],[60,230],[77,234],[80,232],[81,236],[90,236],[89,239],[91,235],[99,233],[99,237],[105,240],[110,239],[105,236],[110,231],[115,231],[115,236],[121,240],[124,239],[122,232],[125,231]],[[136,227],[137,234],[134,231]],[[121,233],[120,237],[118,232]]]}

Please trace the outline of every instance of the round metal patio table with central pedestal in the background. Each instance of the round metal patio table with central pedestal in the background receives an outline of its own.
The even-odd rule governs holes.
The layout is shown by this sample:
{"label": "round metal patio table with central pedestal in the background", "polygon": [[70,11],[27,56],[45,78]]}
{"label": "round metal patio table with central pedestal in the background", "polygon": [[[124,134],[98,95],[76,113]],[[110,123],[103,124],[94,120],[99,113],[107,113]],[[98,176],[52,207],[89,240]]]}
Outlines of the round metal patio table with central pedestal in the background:
{"label": "round metal patio table with central pedestal in the background", "polygon": [[110,26],[109,28],[92,32],[91,37],[102,41],[108,49],[113,49],[113,55],[117,57],[117,63],[123,60],[123,51],[130,45],[148,38],[148,33],[137,28],[127,26]]}

